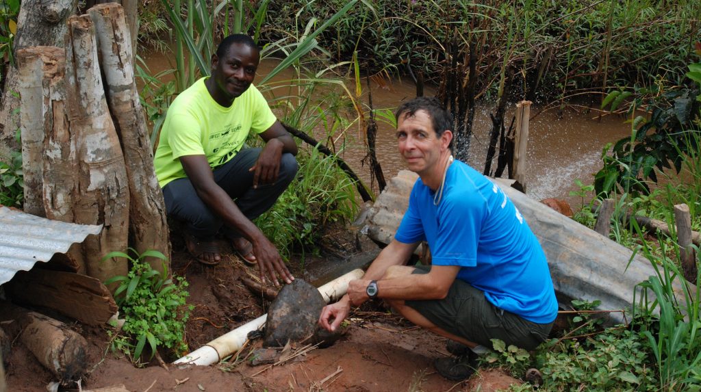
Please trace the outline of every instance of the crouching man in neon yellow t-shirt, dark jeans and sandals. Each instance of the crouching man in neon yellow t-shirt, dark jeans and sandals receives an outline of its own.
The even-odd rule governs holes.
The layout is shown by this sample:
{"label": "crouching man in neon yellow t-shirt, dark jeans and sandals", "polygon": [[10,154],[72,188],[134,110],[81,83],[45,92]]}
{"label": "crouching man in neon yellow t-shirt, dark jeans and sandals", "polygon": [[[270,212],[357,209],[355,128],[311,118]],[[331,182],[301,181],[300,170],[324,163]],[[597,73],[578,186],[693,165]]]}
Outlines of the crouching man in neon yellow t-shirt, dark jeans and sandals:
{"label": "crouching man in neon yellow t-shirt, dark jeans and sandals", "polygon": [[[221,229],[234,250],[275,285],[294,279],[275,246],[252,223],[272,207],[297,174],[297,145],[252,85],[260,61],[243,34],[224,38],[212,55],[212,76],[172,102],[154,158],[168,215],[184,223],[191,255],[221,260]],[[263,148],[243,148],[254,132]]]}

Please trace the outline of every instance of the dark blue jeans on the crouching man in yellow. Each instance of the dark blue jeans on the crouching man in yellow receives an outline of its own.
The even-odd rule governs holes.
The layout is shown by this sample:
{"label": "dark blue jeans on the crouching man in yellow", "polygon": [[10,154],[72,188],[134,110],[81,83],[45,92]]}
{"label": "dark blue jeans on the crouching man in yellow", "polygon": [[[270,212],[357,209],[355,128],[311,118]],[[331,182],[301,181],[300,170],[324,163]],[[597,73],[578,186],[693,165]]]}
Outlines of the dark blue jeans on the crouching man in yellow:
{"label": "dark blue jeans on the crouching man in yellow", "polygon": [[[278,180],[272,184],[259,184],[254,189],[254,173],[248,169],[255,164],[260,152],[260,148],[242,149],[229,162],[213,170],[217,185],[229,194],[238,209],[250,220],[273,207],[297,174],[297,160],[292,154],[284,153],[280,160]],[[234,228],[226,227],[222,218],[200,200],[189,179],[170,181],[163,188],[163,198],[168,216],[184,223],[185,230],[198,239],[212,239],[219,229],[227,237],[240,237],[240,233]]]}

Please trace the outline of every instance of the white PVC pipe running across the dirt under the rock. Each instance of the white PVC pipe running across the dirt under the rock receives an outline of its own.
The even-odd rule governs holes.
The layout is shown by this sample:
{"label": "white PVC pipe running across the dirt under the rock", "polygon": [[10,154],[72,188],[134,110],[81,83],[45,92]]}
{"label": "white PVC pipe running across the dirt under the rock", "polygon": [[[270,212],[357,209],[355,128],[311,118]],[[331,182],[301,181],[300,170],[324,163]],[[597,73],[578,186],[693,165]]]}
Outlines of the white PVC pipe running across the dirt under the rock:
{"label": "white PVC pipe running across the dirt under the rock", "polygon": [[[338,300],[343,294],[346,294],[348,290],[348,282],[353,279],[360,279],[364,272],[362,269],[353,269],[353,271],[348,272],[339,276],[338,278],[329,281],[325,285],[318,288],[322,297],[324,297],[325,302],[331,300]],[[201,346],[199,349],[192,351],[186,356],[176,360],[175,364],[185,364],[185,365],[212,365],[212,363],[218,363],[222,358],[229,356],[231,353],[235,353],[243,347],[246,342],[248,332],[257,330],[263,325],[268,319],[268,314],[264,314],[259,318],[249,321],[240,327],[227,332],[226,334],[217,337],[217,339],[212,340]]]}

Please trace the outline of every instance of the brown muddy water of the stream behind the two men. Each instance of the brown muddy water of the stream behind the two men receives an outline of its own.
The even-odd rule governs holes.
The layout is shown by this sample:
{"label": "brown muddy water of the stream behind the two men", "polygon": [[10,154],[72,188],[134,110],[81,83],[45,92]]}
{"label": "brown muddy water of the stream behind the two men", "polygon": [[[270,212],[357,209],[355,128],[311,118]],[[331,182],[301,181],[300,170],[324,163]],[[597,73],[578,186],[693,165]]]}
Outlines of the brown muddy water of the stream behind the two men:
{"label": "brown muddy water of the stream behind the two men", "polygon": [[[152,74],[172,68],[173,61],[158,54],[144,55],[144,59]],[[264,60],[259,67],[258,80],[270,72],[277,62]],[[292,78],[292,72],[283,72],[273,81],[283,81]],[[349,87],[351,83],[348,83]],[[351,87],[352,89],[353,87]],[[385,85],[372,84],[372,101],[375,109],[394,109],[404,100],[415,97],[414,83],[404,78],[393,80]],[[285,94],[283,92],[274,94]],[[427,96],[435,94],[435,88],[426,87]],[[363,92],[363,100],[367,103],[367,87]],[[473,139],[470,147],[468,163],[479,172],[484,168],[491,120],[489,113],[494,112],[494,102],[482,102],[477,107],[473,125]],[[531,117],[540,111],[536,104],[531,107]],[[584,183],[592,183],[592,174],[601,167],[601,149],[611,141],[616,141],[630,134],[629,125],[624,119],[608,116],[599,119],[594,113],[583,109],[558,108],[538,113],[531,120],[529,127],[529,144],[526,155],[527,194],[536,200],[546,197],[564,198],[578,207],[577,197],[570,197],[571,190],[578,190],[575,179]],[[510,103],[505,122],[510,123],[515,102]],[[366,113],[367,116],[367,113]],[[316,134],[322,141],[322,135]],[[343,141],[345,143],[343,143]],[[357,125],[346,132],[343,140],[336,140],[336,147],[345,145],[341,156],[366,184],[370,181],[367,165],[362,164],[367,153],[365,135]],[[377,155],[386,179],[390,179],[401,169],[405,168],[395,140],[395,130],[389,125],[379,122],[377,134]],[[496,167],[496,160],[492,167]],[[376,185],[374,186],[376,189]]]}

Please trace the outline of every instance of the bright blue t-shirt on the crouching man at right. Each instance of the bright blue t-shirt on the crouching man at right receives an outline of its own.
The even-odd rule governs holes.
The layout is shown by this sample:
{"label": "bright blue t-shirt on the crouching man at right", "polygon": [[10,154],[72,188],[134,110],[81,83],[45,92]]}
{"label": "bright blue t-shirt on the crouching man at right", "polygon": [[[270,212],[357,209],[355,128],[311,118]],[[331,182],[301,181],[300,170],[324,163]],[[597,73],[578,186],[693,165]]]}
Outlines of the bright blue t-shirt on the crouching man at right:
{"label": "bright blue t-shirt on the crouching man at right", "polygon": [[428,241],[433,265],[459,265],[463,279],[494,306],[533,323],[557,316],[550,269],[538,239],[501,188],[456,160],[442,200],[416,180],[395,239]]}

